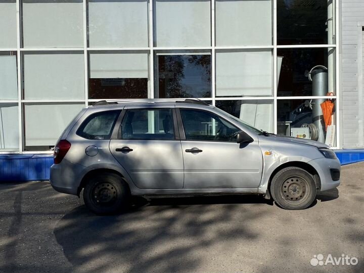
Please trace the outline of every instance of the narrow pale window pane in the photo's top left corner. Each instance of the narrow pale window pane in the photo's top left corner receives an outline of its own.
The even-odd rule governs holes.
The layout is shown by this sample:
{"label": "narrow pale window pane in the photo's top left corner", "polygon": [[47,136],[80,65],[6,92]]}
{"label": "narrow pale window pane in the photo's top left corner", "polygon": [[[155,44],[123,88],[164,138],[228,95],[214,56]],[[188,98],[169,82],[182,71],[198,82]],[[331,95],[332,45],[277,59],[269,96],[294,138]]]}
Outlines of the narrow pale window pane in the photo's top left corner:
{"label": "narrow pale window pane in the photo's top left corner", "polygon": [[0,0],[0,48],[17,47],[16,1]]}

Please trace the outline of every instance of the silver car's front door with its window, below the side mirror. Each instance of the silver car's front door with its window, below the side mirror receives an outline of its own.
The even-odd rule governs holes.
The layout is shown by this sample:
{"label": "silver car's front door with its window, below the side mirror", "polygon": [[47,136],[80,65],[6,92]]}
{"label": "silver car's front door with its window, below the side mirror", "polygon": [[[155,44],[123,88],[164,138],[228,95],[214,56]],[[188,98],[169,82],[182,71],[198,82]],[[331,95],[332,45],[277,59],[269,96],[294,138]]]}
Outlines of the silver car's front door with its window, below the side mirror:
{"label": "silver car's front door with its window, below the side mirror", "polygon": [[262,153],[258,143],[236,143],[235,125],[203,110],[180,109],[186,189],[258,188]]}

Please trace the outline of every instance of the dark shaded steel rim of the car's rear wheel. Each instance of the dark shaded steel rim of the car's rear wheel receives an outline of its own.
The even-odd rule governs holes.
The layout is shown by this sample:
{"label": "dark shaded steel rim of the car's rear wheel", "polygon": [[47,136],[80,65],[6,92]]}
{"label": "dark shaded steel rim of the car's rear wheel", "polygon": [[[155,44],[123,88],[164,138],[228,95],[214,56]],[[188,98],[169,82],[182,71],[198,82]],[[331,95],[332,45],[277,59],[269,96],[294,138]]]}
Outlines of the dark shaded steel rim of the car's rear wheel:
{"label": "dark shaded steel rim of the car's rear wheel", "polygon": [[100,182],[94,186],[90,192],[94,205],[108,207],[115,204],[118,192],[115,186],[109,182]]}

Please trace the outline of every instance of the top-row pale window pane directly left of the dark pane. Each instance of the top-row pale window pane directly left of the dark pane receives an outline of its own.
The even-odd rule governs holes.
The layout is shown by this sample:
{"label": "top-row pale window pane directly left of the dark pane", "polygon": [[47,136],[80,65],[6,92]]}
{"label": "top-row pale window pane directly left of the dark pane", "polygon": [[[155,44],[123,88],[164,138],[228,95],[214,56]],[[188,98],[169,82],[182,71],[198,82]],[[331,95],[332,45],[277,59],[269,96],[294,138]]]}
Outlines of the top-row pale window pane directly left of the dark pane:
{"label": "top-row pale window pane directly left of the dark pane", "polygon": [[215,16],[218,46],[272,44],[271,0],[217,0]]}

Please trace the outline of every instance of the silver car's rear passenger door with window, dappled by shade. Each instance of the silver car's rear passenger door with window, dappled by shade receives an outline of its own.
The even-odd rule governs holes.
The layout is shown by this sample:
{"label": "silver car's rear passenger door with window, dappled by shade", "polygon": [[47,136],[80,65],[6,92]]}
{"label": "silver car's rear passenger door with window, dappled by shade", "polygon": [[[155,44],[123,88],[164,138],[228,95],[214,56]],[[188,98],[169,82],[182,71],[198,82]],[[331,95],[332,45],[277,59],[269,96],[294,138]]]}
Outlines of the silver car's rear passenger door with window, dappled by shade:
{"label": "silver car's rear passenger door with window, dappled by shade", "polygon": [[183,188],[184,170],[174,107],[125,107],[110,151],[141,189]]}

